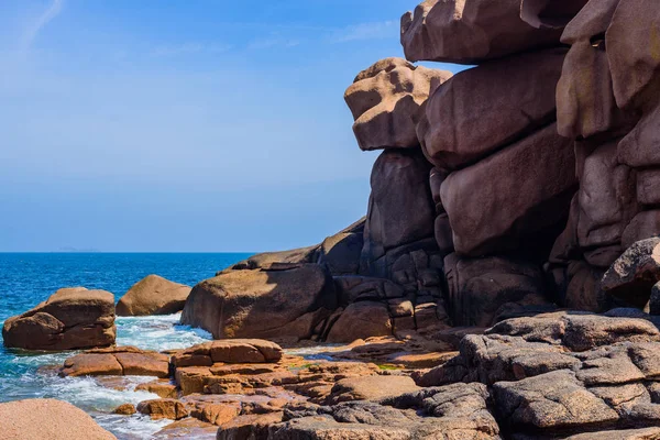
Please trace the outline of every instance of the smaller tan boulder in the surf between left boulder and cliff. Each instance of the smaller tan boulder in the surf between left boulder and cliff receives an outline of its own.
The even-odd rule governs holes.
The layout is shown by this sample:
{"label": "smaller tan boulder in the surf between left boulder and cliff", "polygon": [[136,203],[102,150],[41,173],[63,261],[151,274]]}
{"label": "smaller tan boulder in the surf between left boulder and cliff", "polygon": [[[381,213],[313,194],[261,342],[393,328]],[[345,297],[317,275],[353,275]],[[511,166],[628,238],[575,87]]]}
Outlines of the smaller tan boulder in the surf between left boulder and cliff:
{"label": "smaller tan boulder in the surf between left boulder and cliff", "polygon": [[182,311],[190,295],[190,286],[158,275],[138,282],[117,302],[118,316],[170,315]]}

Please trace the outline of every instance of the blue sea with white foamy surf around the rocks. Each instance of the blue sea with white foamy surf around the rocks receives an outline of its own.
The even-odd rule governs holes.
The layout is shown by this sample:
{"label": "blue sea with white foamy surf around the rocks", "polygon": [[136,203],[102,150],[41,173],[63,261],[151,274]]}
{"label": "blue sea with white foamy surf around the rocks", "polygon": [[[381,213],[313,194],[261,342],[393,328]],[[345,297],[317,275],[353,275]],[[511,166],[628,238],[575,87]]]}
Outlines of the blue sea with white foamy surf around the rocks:
{"label": "blue sea with white foamy surf around the rocks", "polygon": [[[0,253],[0,321],[20,315],[62,287],[82,286],[114,294],[118,300],[150,274],[194,286],[249,253]],[[179,314],[180,315],[180,314]],[[211,334],[179,324],[179,315],[117,318],[117,344],[146,350],[183,349]],[[25,352],[0,348],[0,403],[56,398],[87,411],[120,440],[150,439],[169,420],[113,415],[119,405],[158,398],[134,388],[153,377],[124,377],[117,383],[91,377],[58,377],[54,366],[75,352]]]}

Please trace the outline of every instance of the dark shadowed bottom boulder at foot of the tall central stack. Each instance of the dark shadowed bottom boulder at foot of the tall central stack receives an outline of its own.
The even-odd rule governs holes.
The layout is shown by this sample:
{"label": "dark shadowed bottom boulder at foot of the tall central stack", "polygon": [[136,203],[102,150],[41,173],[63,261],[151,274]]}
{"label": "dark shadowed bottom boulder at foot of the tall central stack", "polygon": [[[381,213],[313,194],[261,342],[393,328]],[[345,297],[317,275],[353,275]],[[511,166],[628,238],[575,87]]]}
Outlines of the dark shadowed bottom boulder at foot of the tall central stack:
{"label": "dark shadowed bottom boulder at foot of the tall central stack", "polygon": [[498,316],[546,305],[543,279],[534,264],[504,257],[444,258],[449,315],[454,326],[491,326]]}

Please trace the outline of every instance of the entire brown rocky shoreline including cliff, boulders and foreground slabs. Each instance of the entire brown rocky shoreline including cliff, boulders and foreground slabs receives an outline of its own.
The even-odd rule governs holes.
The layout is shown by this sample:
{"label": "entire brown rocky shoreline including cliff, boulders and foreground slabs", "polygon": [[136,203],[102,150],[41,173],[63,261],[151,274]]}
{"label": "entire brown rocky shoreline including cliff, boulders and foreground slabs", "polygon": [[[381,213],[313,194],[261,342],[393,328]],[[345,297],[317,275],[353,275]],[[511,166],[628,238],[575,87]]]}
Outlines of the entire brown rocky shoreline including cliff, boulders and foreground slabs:
{"label": "entire brown rocky shoreline including cliff, boulders and foreground slabs", "polygon": [[[116,413],[172,420],[156,438],[660,439],[659,14],[424,1],[407,59],[344,95],[360,147],[383,150],[365,218],[191,288],[152,275],[117,306],[61,289],[4,344],[86,350],[65,377],[153,377],[161,398]],[[215,341],[116,345],[116,316],[177,311]],[[112,438],[46,400],[0,404],[12,438],[40,429],[28,406]]]}

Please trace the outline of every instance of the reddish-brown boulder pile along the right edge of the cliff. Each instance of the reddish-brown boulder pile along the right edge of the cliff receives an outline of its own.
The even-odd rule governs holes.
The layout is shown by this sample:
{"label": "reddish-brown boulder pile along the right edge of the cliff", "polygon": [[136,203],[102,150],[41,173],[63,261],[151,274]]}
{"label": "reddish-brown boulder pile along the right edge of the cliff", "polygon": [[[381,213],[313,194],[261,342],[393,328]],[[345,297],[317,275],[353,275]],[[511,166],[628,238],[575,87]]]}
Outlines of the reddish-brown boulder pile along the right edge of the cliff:
{"label": "reddish-brown boulder pile along the right edge of the cliff", "polygon": [[576,140],[580,189],[548,268],[566,307],[612,307],[601,277],[632,243],[660,233],[657,23],[652,2],[592,0],[561,36],[571,48],[557,88],[558,131]]}

